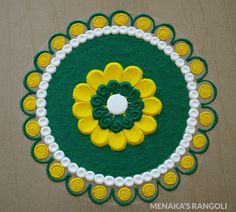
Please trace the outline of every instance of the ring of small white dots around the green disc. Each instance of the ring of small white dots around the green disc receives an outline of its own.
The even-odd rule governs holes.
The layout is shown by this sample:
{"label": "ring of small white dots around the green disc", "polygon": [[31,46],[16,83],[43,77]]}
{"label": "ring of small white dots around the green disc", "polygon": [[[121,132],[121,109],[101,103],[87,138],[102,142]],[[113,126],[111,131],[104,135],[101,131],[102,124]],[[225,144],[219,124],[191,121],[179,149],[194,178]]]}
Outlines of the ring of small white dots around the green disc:
{"label": "ring of small white dots around the green disc", "polygon": [[[102,174],[95,174],[93,171],[87,171],[83,167],[79,167],[76,163],[73,163],[68,157],[65,156],[62,150],[59,150],[59,146],[56,143],[54,137],[51,135],[51,129],[49,127],[49,120],[47,119],[46,111],[46,96],[49,82],[52,79],[52,74],[56,72],[57,67],[60,65],[60,61],[63,60],[67,54],[70,54],[73,48],[77,48],[79,44],[85,43],[87,40],[100,37],[102,35],[109,34],[127,34],[128,36],[134,36],[139,39],[143,39],[149,42],[153,46],[157,46],[159,50],[164,53],[175,62],[176,66],[180,68],[184,75],[185,81],[187,82],[187,89],[189,90],[189,118],[187,119],[187,127],[179,146],[171,154],[170,158],[167,159],[163,164],[157,168],[152,169],[141,174],[128,177],[113,177],[104,176]],[[94,30],[88,30],[85,34],[79,35],[77,38],[70,40],[69,44],[64,45],[62,50],[56,52],[55,57],[51,59],[51,63],[46,67],[42,80],[39,84],[39,89],[36,93],[37,96],[37,110],[36,116],[38,117],[38,124],[41,127],[41,135],[45,144],[49,146],[49,151],[53,154],[55,160],[60,161],[63,167],[67,168],[72,174],[77,174],[78,177],[85,178],[87,181],[94,181],[97,184],[105,184],[106,186],[128,186],[131,187],[134,184],[140,185],[143,182],[149,182],[152,179],[157,179],[161,174],[165,174],[169,169],[175,166],[181,159],[181,156],[185,154],[187,148],[190,146],[192,135],[196,131],[197,117],[199,115],[198,107],[200,102],[198,100],[198,92],[196,90],[197,85],[194,81],[194,75],[190,73],[190,68],[185,64],[185,60],[181,59],[179,55],[174,52],[171,45],[167,45],[166,42],[160,41],[159,38],[151,33],[145,33],[140,29],[126,26],[106,26],[103,29],[96,28]]]}

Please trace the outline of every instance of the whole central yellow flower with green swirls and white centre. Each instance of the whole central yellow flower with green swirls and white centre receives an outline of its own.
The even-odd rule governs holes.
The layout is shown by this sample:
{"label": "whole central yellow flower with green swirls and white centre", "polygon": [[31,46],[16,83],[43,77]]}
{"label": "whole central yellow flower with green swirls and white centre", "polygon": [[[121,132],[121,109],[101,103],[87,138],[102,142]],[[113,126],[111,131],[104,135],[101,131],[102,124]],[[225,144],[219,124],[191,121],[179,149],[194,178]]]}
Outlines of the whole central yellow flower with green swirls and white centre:
{"label": "whole central yellow flower with green swirls and white centre", "polygon": [[156,84],[143,78],[139,67],[123,69],[111,62],[104,71],[91,70],[86,81],[74,88],[72,111],[80,132],[90,135],[94,145],[120,151],[127,143],[140,144],[145,135],[155,132],[153,116],[160,114],[162,103],[153,96]]}

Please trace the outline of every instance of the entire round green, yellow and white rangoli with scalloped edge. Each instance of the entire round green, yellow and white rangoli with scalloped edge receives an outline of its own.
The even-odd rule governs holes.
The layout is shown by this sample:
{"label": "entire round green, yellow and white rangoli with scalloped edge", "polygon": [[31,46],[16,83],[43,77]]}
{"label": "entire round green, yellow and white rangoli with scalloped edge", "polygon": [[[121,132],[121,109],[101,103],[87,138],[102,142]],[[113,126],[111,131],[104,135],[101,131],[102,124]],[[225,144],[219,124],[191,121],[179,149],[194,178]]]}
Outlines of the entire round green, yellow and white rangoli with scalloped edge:
{"label": "entire round green, yellow and white rangoli with scalloped edge", "polygon": [[146,202],[197,169],[218,117],[208,66],[175,29],[119,10],[71,22],[24,78],[23,132],[55,182],[98,204]]}

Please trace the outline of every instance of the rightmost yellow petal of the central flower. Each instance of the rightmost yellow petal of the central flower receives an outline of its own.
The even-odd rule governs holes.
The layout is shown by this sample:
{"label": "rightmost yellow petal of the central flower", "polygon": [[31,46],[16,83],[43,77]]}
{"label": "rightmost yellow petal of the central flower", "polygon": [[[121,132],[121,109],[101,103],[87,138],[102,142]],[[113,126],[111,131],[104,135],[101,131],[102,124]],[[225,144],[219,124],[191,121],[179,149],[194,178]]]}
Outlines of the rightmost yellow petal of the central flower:
{"label": "rightmost yellow petal of the central flower", "polygon": [[157,115],[160,114],[162,110],[162,103],[161,101],[156,97],[150,97],[143,99],[144,102],[144,108],[143,113],[146,115]]}

